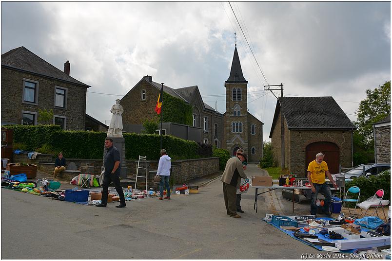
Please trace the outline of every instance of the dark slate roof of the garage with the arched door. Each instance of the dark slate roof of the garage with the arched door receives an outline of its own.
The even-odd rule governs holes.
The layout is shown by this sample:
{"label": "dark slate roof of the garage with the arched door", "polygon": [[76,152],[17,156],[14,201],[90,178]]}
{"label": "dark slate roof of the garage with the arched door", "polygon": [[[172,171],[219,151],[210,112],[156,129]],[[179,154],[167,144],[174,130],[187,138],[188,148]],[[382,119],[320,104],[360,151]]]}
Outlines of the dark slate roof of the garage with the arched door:
{"label": "dark slate roof of the garage with the arched door", "polygon": [[[279,101],[282,98],[279,97]],[[283,97],[283,115],[289,129],[355,129],[353,122],[331,96]],[[270,138],[280,111],[276,103]]]}

